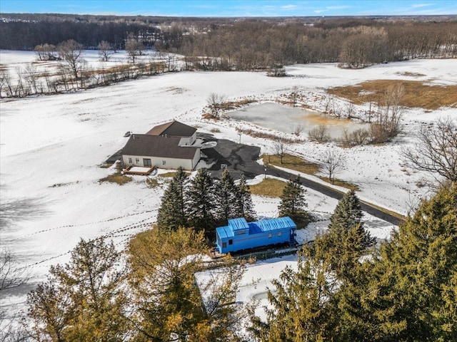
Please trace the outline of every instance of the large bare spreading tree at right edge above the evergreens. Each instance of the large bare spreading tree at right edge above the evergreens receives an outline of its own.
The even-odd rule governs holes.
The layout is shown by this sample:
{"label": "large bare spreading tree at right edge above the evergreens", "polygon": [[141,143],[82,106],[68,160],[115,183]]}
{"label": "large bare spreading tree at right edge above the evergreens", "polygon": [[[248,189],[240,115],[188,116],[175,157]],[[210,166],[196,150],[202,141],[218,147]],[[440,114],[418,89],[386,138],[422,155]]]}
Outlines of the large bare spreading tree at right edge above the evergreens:
{"label": "large bare spreading tree at right edge above the evergreens", "polygon": [[438,174],[445,181],[457,182],[456,122],[447,118],[438,120],[433,128],[422,126],[416,138],[414,147],[402,151],[406,164],[416,170]]}

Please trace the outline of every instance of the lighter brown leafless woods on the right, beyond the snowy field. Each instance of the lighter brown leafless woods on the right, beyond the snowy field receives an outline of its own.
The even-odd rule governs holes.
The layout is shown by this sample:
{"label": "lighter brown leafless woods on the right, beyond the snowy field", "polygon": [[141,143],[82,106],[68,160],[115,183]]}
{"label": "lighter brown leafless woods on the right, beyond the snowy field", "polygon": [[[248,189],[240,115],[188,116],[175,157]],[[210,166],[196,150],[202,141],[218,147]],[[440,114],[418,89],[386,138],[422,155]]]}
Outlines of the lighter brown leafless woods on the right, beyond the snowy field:
{"label": "lighter brown leafless woods on the right, beyond the snowy field", "polygon": [[[331,19],[329,20],[331,21]],[[357,20],[303,25],[239,20],[207,34],[183,36],[169,46],[200,58],[200,68],[226,70],[274,69],[293,63],[338,62],[345,68],[408,58],[456,58],[457,22]]]}

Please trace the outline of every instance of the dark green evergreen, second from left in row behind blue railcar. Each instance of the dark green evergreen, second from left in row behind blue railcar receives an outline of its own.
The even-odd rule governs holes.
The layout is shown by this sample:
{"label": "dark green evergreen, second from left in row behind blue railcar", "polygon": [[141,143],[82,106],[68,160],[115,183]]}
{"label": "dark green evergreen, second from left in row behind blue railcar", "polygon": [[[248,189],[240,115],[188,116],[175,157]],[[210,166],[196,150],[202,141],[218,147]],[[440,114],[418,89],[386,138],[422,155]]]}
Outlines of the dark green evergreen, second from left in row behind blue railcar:
{"label": "dark green evergreen, second from left in row behind blue railcar", "polygon": [[211,175],[206,169],[199,169],[186,192],[186,216],[189,225],[197,230],[203,229],[207,235],[214,235],[215,206],[214,182]]}

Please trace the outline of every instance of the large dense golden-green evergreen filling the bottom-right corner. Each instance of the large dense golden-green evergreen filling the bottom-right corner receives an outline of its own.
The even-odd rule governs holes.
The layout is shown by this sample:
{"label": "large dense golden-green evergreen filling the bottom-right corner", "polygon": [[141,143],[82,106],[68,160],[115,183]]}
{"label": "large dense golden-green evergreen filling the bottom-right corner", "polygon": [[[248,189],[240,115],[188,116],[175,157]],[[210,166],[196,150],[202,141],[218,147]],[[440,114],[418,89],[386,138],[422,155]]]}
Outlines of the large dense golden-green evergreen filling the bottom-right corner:
{"label": "large dense golden-green evergreen filling the bottom-right corner", "polygon": [[383,334],[457,341],[457,185],[423,202],[380,252],[369,286]]}

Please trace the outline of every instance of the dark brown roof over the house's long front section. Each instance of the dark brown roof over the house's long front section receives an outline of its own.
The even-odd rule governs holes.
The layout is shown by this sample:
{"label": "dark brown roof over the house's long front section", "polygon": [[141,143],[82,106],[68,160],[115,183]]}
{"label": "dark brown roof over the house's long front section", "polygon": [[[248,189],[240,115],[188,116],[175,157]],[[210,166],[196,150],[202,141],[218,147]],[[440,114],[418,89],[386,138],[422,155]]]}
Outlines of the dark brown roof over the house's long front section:
{"label": "dark brown roof over the house's long front section", "polygon": [[122,155],[144,155],[146,157],[165,157],[194,159],[198,147],[179,146],[178,137],[161,135],[134,134],[127,141]]}

